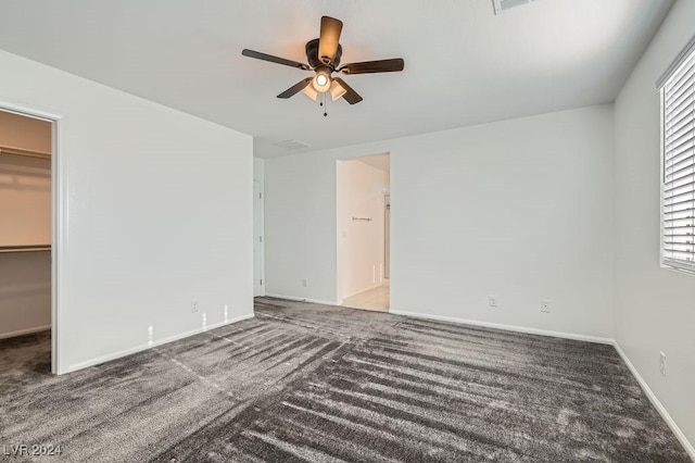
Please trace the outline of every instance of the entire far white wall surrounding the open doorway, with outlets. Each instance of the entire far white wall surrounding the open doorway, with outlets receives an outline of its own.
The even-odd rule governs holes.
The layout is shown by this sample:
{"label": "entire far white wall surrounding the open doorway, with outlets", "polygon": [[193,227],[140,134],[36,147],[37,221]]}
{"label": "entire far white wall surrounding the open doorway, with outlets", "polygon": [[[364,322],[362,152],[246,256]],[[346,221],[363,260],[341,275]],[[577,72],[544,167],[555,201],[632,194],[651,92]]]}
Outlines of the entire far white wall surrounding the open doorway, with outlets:
{"label": "entire far white wall surrounding the open doorway, with outlets", "polygon": [[392,310],[611,338],[612,148],[602,105],[266,160],[267,292],[339,299],[334,160],[390,152]]}

